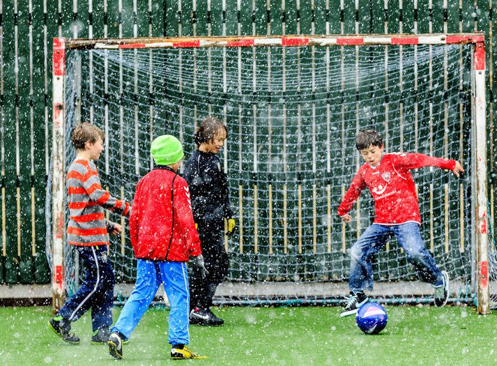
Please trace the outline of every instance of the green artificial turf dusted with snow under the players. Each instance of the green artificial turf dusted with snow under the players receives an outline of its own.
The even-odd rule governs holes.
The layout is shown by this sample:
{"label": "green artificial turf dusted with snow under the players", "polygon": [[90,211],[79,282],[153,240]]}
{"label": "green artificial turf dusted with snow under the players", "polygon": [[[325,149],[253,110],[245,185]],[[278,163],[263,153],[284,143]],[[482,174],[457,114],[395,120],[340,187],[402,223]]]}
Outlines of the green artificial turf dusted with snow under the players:
{"label": "green artificial turf dusted with snow under the players", "polygon": [[[219,328],[190,327],[191,349],[207,360],[171,360],[169,311],[148,310],[114,360],[90,344],[86,314],[72,328],[82,342],[66,344],[49,330],[47,307],[0,307],[1,365],[496,365],[497,313],[473,307],[386,307],[388,325],[365,335],[338,307],[224,307]],[[121,308],[116,308],[114,320]]]}

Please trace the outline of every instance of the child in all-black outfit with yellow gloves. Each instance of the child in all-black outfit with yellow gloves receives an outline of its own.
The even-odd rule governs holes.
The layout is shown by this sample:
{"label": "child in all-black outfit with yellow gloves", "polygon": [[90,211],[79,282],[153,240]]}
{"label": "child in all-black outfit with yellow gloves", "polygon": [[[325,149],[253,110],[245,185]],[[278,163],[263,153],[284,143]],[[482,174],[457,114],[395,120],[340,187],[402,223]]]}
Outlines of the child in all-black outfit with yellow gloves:
{"label": "child in all-black outfit with yellow gloves", "polygon": [[204,119],[194,135],[199,148],[188,159],[183,171],[183,178],[190,189],[193,218],[198,225],[200,246],[208,271],[205,278],[195,273],[190,278],[190,323],[204,326],[220,326],[224,323],[213,314],[211,306],[217,285],[222,282],[229,268],[223,243],[224,219],[227,219],[229,234],[236,226],[229,204],[227,176],[217,157],[227,133],[226,126],[219,119]]}

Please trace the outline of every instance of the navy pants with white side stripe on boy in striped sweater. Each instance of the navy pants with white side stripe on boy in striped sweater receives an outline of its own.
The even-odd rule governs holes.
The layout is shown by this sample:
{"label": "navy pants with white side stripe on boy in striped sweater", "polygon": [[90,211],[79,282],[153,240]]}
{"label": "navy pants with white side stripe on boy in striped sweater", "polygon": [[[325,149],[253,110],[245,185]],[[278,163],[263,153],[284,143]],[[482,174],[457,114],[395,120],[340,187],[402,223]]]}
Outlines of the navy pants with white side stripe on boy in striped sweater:
{"label": "navy pants with white side stripe on boy in striped sweater", "polygon": [[112,324],[114,305],[114,272],[107,257],[107,245],[76,246],[79,258],[86,267],[83,284],[66,301],[59,314],[69,321],[77,321],[91,308],[93,331]]}

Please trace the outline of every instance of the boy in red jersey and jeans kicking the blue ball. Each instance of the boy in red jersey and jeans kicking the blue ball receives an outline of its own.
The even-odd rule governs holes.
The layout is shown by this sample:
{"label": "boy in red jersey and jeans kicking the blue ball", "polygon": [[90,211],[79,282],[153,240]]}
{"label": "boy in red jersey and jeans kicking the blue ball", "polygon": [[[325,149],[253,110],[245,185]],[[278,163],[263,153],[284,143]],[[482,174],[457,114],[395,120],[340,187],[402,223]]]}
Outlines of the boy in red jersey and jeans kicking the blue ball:
{"label": "boy in red jersey and jeans kicking the blue ball", "polygon": [[385,153],[383,140],[375,130],[363,130],[355,138],[355,147],[365,160],[347,190],[338,214],[351,222],[349,211],[365,188],[374,199],[374,222],[351,247],[350,296],[340,317],[355,314],[369,301],[365,289],[373,289],[372,254],[378,252],[393,234],[418,270],[421,279],[435,288],[435,305],[441,307],[449,296],[449,276],[435,264],[420,235],[420,209],[411,169],[439,167],[456,176],[464,173],[456,160],[432,158],[420,153]]}

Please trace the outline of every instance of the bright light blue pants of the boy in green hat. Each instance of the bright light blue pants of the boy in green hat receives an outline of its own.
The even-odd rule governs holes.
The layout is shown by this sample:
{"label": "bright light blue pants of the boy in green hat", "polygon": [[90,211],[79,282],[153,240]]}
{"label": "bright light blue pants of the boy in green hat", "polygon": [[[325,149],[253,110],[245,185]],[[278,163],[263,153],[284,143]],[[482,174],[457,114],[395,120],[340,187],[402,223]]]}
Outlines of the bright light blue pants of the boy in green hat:
{"label": "bright light blue pants of the boy in green hat", "polygon": [[111,332],[120,332],[128,339],[157,293],[164,284],[171,304],[169,312],[169,344],[189,344],[188,274],[185,262],[137,259],[137,283],[126,301]]}

